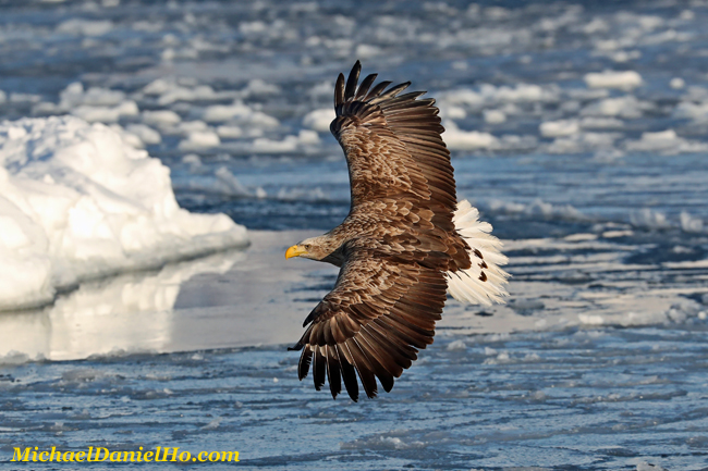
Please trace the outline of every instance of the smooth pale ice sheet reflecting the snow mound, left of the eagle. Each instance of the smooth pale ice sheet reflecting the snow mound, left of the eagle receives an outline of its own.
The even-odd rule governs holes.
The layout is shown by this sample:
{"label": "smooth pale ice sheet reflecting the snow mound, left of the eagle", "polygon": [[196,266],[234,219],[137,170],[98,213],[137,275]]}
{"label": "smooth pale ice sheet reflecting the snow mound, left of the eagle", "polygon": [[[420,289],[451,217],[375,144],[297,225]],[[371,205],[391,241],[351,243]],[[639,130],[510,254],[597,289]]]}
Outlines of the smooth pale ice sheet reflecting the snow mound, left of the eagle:
{"label": "smooth pale ice sheet reflecting the snow mound, left of the eagle", "polygon": [[291,343],[337,276],[331,265],[284,263],[283,244],[315,234],[253,231],[246,250],[87,281],[50,306],[2,312],[0,368]]}

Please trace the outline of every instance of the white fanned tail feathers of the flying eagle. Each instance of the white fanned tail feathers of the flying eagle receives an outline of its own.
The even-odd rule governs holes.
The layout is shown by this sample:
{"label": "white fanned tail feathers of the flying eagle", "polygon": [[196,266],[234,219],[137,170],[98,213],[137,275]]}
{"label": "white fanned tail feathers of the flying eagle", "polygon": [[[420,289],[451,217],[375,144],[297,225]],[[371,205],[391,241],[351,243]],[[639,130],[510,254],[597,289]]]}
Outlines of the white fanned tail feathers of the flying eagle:
{"label": "white fanned tail feathers of the flying eagle", "polygon": [[469,201],[457,203],[452,221],[455,230],[469,246],[472,267],[467,270],[448,272],[448,293],[459,301],[491,306],[505,302],[509,296],[504,285],[509,273],[500,269],[508,262],[501,249],[501,240],[492,236],[491,224],[479,221],[479,211]]}

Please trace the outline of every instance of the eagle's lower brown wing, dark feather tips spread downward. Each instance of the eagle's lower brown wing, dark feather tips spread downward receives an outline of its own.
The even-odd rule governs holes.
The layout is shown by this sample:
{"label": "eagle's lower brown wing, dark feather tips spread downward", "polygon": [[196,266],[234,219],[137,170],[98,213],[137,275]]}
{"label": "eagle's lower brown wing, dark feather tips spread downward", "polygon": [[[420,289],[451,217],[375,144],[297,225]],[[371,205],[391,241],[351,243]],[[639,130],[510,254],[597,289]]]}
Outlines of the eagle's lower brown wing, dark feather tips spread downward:
{"label": "eagle's lower brown wing, dark feather tips spread downward", "polygon": [[378,392],[376,377],[388,393],[418,349],[432,343],[447,282],[442,272],[424,267],[435,261],[366,248],[346,251],[334,289],[307,317],[304,325],[309,326],[292,349],[303,349],[301,380],[312,363],[317,391],[327,376],[335,398],[343,380],[356,401],[357,374],[369,398]]}

